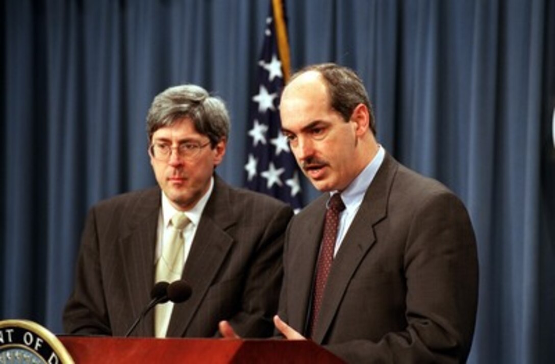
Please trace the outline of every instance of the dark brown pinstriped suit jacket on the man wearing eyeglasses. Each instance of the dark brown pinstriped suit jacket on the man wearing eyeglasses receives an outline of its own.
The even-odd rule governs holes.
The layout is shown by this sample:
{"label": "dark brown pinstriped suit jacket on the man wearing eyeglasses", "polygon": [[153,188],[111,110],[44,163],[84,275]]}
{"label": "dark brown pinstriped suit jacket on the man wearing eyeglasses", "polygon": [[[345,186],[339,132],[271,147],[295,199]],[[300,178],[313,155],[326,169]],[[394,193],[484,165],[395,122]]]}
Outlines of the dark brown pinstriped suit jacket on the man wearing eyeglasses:
{"label": "dark brown pinstriped suit jacket on the man wearing eyeglasses", "polygon": [[[160,189],[130,192],[91,208],[63,315],[68,333],[123,336],[150,301]],[[193,294],[174,306],[170,337],[218,335],[229,320],[245,337],[273,332],[291,208],[215,178],[183,270]],[[151,312],[134,336],[153,336]]]}

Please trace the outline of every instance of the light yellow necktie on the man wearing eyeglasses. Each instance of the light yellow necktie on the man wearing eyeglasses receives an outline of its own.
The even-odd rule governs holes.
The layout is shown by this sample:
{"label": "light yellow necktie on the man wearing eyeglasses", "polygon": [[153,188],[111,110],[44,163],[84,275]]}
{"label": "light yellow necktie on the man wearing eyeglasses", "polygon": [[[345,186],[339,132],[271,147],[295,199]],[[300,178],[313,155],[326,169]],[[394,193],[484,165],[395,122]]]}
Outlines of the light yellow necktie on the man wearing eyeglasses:
{"label": "light yellow necktie on the man wearing eyeglasses", "polygon": [[[181,279],[183,272],[184,258],[183,250],[185,240],[183,229],[190,222],[184,213],[178,212],[171,218],[171,236],[164,243],[162,256],[156,266],[155,282],[173,282]],[[154,308],[154,336],[165,337],[168,331],[173,303],[166,302],[158,304]]]}

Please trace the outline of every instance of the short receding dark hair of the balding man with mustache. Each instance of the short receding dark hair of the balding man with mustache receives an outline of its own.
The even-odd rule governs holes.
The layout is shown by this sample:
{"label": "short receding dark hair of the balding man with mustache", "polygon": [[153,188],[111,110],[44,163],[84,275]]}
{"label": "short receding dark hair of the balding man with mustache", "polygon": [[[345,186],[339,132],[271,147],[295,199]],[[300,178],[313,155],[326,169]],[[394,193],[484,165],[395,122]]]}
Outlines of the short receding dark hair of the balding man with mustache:
{"label": "short receding dark hair of the balding man with mustache", "polygon": [[374,109],[362,80],[352,69],[335,63],[321,63],[306,66],[295,72],[289,82],[302,73],[316,71],[322,75],[330,93],[331,107],[339,112],[345,121],[349,121],[358,104],[364,104],[370,113],[370,130],[376,135]]}

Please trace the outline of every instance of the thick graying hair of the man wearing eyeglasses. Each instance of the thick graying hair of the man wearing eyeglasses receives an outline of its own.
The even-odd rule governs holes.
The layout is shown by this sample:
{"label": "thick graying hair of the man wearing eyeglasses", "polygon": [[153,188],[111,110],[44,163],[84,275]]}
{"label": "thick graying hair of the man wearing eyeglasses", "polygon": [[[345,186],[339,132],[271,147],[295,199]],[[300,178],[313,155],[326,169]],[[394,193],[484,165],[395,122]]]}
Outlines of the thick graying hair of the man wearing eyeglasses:
{"label": "thick graying hair of the man wearing eyeglasses", "polygon": [[229,113],[224,101],[200,86],[184,84],[165,89],[154,98],[147,115],[149,142],[159,128],[183,117],[193,121],[196,131],[207,136],[213,148],[229,137]]}

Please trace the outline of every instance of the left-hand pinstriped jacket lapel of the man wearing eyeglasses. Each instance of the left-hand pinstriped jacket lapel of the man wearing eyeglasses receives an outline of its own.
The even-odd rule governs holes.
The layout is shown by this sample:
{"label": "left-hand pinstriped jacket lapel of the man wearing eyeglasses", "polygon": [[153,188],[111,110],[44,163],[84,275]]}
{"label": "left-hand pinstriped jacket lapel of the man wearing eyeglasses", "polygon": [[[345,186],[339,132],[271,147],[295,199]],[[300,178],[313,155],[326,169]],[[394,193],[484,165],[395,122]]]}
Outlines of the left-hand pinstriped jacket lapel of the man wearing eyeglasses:
{"label": "left-hand pinstriped jacket lapel of the man wearing eyeglasses", "polygon": [[[128,220],[129,233],[119,241],[119,260],[122,267],[116,266],[114,274],[125,275],[125,287],[130,301],[126,304],[137,317],[150,301],[150,290],[154,285],[154,247],[158,230],[160,211],[160,190],[152,188],[130,209]],[[137,327],[136,334],[153,336],[154,318],[147,315]]]}

